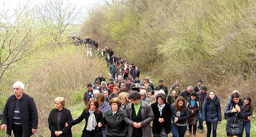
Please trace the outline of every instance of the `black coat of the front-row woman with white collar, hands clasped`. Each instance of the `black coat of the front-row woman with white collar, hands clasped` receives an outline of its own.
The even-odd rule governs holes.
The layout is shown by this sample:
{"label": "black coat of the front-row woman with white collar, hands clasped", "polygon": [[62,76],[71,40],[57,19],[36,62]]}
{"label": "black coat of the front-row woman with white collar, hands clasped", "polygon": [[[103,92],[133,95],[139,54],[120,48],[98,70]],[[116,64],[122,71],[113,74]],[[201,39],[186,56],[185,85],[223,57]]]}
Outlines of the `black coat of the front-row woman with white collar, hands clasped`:
{"label": "black coat of the front-row woman with white collar, hands clasped", "polygon": [[[159,109],[158,109],[158,102],[151,104],[152,111],[154,113],[154,120],[153,120],[153,127],[152,127],[152,132],[154,134],[160,134],[161,133],[161,128],[164,128],[164,131],[166,134],[170,133],[172,131],[172,108],[170,107],[169,103],[165,103],[165,106],[162,109],[162,116],[160,115]],[[159,118],[163,118],[164,122],[160,123],[158,121]]]}

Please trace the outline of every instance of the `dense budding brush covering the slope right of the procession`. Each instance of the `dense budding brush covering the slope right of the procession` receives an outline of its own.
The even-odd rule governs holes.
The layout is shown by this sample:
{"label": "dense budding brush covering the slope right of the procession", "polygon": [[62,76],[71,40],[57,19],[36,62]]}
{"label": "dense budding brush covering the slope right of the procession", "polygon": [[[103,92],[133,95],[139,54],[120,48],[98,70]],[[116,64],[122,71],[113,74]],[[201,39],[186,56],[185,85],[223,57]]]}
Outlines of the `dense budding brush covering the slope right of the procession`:
{"label": "dense budding brush covering the slope right of the procession", "polygon": [[203,79],[223,100],[239,90],[255,104],[255,1],[113,2],[91,11],[84,34],[115,47],[156,82],[179,79],[187,87]]}

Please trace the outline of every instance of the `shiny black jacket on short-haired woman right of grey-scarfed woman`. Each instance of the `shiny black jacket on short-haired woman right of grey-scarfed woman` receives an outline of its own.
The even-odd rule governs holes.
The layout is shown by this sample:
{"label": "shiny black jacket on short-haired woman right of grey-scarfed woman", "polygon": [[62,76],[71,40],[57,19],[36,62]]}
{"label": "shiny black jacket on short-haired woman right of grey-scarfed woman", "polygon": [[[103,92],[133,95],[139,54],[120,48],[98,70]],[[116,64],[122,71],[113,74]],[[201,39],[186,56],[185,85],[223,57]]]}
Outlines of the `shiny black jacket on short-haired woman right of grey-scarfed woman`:
{"label": "shiny black jacket on short-haired woman right of grey-scarfed woman", "polygon": [[123,119],[124,110],[118,108],[116,115],[112,113],[112,108],[110,107],[103,114],[104,122],[107,125],[106,135],[107,136],[126,136],[126,123]]}

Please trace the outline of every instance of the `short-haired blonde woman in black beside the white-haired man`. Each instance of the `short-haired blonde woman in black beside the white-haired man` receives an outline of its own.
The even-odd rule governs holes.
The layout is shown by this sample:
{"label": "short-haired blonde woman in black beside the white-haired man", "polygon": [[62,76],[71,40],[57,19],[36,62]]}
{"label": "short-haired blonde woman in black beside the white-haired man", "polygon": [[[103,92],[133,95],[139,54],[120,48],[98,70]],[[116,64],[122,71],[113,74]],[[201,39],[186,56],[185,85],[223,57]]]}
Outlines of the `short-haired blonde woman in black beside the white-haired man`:
{"label": "short-haired blonde woman in black beside the white-haired man", "polygon": [[48,118],[51,136],[72,136],[71,127],[65,127],[66,122],[73,121],[70,110],[64,107],[65,99],[63,97],[57,97],[54,103],[56,108],[52,109]]}

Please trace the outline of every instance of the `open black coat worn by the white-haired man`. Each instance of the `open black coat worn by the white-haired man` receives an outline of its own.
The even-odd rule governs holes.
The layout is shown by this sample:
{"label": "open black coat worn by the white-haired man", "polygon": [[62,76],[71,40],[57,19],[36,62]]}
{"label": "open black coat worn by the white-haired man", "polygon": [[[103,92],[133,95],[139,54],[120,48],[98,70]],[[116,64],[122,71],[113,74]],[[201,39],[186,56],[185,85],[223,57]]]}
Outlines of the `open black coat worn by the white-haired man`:
{"label": "open black coat worn by the white-haired man", "polygon": [[[16,105],[15,95],[11,95],[4,108],[3,120],[1,125],[7,125],[7,134],[11,135],[12,131],[12,120]],[[38,113],[34,99],[23,92],[22,98],[19,99],[19,115],[22,122],[22,129],[25,136],[31,136],[32,128],[37,129],[38,124]]]}

